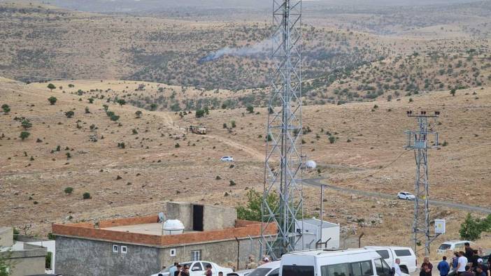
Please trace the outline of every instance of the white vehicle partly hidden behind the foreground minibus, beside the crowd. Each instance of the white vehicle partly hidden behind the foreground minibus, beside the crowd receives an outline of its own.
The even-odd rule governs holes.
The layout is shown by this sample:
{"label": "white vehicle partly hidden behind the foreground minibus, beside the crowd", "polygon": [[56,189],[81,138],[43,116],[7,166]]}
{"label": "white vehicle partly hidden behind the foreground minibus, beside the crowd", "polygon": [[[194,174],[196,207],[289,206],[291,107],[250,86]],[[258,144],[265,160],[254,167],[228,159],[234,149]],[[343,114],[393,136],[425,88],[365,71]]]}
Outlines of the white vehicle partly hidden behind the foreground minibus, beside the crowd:
{"label": "white vehicle partly hidden behind the foreground minibus, beside the crowd", "polygon": [[364,249],[375,250],[382,258],[389,264],[391,268],[394,267],[395,259],[401,260],[399,268],[402,273],[414,273],[418,268],[418,261],[416,260],[416,254],[411,247],[397,247],[397,246],[366,246]]}

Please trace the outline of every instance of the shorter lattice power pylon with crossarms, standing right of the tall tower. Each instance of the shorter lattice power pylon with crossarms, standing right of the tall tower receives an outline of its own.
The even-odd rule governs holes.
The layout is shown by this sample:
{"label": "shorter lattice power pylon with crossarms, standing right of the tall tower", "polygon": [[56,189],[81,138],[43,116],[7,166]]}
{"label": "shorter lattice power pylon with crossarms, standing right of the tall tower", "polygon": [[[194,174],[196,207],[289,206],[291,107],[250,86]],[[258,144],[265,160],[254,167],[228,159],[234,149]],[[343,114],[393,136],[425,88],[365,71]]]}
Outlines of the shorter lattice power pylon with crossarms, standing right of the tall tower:
{"label": "shorter lattice power pylon with crossarms, standing right of the tall tower", "polygon": [[[412,111],[407,112],[408,117],[416,117],[418,120],[418,131],[406,131],[406,149],[414,150],[416,161],[416,180],[415,180],[415,201],[413,218],[413,241],[414,252],[422,240],[425,241],[425,256],[429,256],[429,243],[431,234],[429,229],[429,181],[428,181],[428,149],[438,147],[438,133],[429,129],[428,118],[439,117],[440,112],[434,115],[427,115],[426,111],[421,111],[420,115],[413,115]],[[428,139],[433,141],[428,143]]]}

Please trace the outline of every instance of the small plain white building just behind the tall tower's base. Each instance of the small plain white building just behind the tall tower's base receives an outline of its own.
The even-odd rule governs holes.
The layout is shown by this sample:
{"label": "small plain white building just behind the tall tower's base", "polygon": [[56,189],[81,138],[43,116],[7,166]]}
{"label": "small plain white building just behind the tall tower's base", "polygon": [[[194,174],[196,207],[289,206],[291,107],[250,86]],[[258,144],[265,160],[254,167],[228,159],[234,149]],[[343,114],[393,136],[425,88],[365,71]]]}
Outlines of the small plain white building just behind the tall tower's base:
{"label": "small plain white building just behind the tall tower's base", "polygon": [[[300,233],[302,228],[302,221],[297,221],[296,226],[297,233]],[[312,218],[303,220],[303,228],[303,249],[339,249],[339,224],[322,221],[321,231],[320,219]],[[298,249],[301,250],[301,243],[299,244],[299,247],[300,248]]]}

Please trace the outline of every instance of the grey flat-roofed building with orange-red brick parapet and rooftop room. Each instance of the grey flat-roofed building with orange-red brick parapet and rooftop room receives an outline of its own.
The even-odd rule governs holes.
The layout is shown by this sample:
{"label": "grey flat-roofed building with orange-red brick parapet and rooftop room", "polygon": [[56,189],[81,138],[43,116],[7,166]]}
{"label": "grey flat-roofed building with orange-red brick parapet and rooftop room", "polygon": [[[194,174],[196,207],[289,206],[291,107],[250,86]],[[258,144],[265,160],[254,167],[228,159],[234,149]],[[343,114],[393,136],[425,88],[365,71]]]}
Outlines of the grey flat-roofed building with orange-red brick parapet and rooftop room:
{"label": "grey flat-roofed building with orange-red brick parapet and rooftop room", "polygon": [[[151,275],[173,262],[205,260],[243,268],[259,254],[261,224],[236,219],[233,208],[167,203],[166,217],[185,231],[163,235],[158,215],[53,224],[56,272],[63,275]],[[268,233],[275,234],[270,225]]]}

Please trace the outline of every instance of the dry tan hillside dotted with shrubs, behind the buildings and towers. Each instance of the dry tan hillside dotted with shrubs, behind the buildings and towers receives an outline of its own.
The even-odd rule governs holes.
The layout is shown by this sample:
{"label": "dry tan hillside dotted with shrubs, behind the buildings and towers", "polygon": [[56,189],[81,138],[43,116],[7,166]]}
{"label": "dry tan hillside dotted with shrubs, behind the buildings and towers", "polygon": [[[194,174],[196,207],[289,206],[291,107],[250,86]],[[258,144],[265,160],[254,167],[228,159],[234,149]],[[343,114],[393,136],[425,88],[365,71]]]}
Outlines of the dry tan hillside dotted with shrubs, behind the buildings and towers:
{"label": "dry tan hillside dotted with shrubs, behind the buildings and towers", "polygon": [[[234,206],[243,203],[247,189],[262,189],[264,108],[255,108],[259,113],[254,114],[241,108],[210,110],[197,119],[194,113],[148,111],[101,99],[100,95],[113,93],[106,92],[109,87],[130,91],[139,82],[54,84],[57,88],[50,92],[46,84],[1,80],[0,103],[10,106],[0,120],[3,223],[32,224],[31,233],[44,235],[54,221],[151,214],[162,210],[164,201],[184,198]],[[64,92],[69,84],[73,85],[69,89],[89,93]],[[170,89],[157,83],[146,85]],[[99,97],[90,103],[90,93],[97,93],[94,87],[99,87]],[[55,105],[48,102],[50,96],[57,98]],[[440,110],[441,124],[434,128],[445,146],[429,152],[432,198],[490,207],[485,190],[486,176],[491,173],[487,162],[491,154],[490,87],[458,90],[455,96],[448,91],[422,93],[411,96],[411,103],[409,98],[304,107],[304,126],[311,131],[304,135],[302,148],[308,159],[319,164],[318,171],[304,177],[326,177],[327,182],[341,187],[388,194],[411,191],[415,164],[412,153],[404,152],[402,146],[404,130],[414,129],[415,122],[406,117],[406,110]],[[103,105],[119,117],[112,121]],[[70,110],[74,114],[68,118],[65,112]],[[143,112],[141,118],[135,114],[138,110]],[[19,138],[22,117],[31,122],[25,140]],[[189,124],[206,124],[210,132],[206,136],[186,133]],[[333,144],[328,134],[336,137]],[[236,160],[233,167],[218,160],[229,154]],[[230,186],[230,180],[236,185]],[[66,187],[73,192],[67,194]],[[455,192],[462,188],[463,192]],[[85,192],[90,199],[83,199]],[[327,217],[341,223],[343,233],[364,231],[369,243],[408,244],[411,203],[334,191],[327,191],[326,196]],[[306,188],[306,216],[315,215],[316,208],[318,191]],[[434,216],[449,221],[446,239],[457,238],[458,221],[464,215],[434,208]],[[396,217],[405,219],[404,223],[392,224]],[[376,222],[365,225],[360,219]]]}

